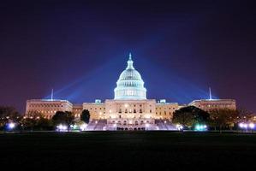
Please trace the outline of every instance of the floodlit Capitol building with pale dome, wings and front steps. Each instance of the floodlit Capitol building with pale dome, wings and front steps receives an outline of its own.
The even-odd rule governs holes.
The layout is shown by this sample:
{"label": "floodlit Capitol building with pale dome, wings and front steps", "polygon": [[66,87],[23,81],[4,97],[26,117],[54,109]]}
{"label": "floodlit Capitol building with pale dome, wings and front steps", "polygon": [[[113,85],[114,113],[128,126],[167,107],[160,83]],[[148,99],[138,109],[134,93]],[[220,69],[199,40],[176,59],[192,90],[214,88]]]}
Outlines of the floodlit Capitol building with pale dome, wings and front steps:
{"label": "floodlit Capitol building with pale dome, wings and front steps", "polygon": [[[167,103],[164,99],[147,99],[146,88],[140,73],[134,68],[129,54],[127,68],[122,71],[116,82],[115,98],[104,103],[96,99],[95,103],[72,104],[68,100],[32,99],[27,100],[26,114],[37,111],[51,119],[57,111],[71,111],[79,118],[82,110],[90,112],[88,130],[171,130],[174,111],[186,105]],[[235,109],[233,99],[194,100],[188,105],[200,109]]]}

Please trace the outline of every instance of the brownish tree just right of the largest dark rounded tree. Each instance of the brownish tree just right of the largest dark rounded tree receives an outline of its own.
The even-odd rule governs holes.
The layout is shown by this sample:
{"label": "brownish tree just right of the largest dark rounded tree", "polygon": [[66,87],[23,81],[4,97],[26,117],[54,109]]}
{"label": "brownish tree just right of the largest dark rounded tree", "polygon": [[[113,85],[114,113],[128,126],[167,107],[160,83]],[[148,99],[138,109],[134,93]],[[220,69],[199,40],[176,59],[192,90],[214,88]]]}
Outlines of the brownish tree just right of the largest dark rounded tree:
{"label": "brownish tree just right of the largest dark rounded tree", "polygon": [[238,119],[238,111],[235,109],[211,109],[211,127],[218,127],[221,132],[223,127],[234,127]]}

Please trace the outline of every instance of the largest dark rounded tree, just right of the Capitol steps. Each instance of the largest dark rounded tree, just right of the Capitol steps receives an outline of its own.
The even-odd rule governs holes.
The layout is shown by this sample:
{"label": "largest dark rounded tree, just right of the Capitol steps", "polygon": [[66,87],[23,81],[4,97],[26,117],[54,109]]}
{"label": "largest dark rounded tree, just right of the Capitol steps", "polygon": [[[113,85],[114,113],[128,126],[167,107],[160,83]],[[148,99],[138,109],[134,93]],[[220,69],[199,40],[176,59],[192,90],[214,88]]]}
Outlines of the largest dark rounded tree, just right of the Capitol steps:
{"label": "largest dark rounded tree, just right of the Capitol steps", "polygon": [[210,115],[202,109],[188,106],[174,112],[172,122],[182,124],[186,127],[193,127],[196,124],[205,124],[209,121]]}

